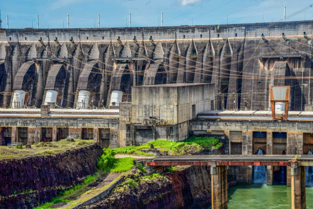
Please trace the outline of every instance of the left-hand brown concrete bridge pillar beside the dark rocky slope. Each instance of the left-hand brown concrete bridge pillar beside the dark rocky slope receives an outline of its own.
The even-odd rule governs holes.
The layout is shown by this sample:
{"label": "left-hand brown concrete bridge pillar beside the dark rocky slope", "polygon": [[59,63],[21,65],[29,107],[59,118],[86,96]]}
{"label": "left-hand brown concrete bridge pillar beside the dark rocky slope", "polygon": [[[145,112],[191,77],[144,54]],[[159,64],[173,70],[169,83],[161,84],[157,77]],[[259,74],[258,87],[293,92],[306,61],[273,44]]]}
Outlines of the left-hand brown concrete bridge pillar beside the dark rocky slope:
{"label": "left-hand brown concrete bridge pillar beside the dark rocky slope", "polygon": [[227,209],[227,167],[211,162],[212,209]]}

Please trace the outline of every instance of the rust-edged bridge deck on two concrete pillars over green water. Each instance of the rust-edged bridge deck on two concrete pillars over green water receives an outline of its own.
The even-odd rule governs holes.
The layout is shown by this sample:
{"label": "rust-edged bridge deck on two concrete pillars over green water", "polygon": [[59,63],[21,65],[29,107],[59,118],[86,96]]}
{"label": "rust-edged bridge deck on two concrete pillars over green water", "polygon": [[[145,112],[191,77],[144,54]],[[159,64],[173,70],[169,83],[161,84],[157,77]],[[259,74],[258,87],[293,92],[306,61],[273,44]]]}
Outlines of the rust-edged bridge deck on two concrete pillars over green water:
{"label": "rust-edged bridge deck on two concrete pillars over green water", "polygon": [[198,165],[210,166],[212,209],[227,208],[228,165],[271,165],[291,168],[292,209],[306,208],[305,166],[313,165],[313,156],[293,155],[199,155],[164,156],[146,160],[147,165]]}

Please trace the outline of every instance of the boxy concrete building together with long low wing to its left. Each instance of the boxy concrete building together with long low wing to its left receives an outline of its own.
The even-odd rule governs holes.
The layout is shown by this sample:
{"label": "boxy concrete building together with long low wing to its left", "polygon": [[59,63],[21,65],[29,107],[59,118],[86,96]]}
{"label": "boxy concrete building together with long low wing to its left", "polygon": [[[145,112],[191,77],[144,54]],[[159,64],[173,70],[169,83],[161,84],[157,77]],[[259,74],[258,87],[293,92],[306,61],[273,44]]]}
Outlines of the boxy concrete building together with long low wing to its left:
{"label": "boxy concrete building together with long low wing to its left", "polygon": [[151,140],[184,140],[189,122],[214,102],[212,83],[132,87],[131,102],[119,109],[0,109],[1,144],[94,139],[103,148]]}

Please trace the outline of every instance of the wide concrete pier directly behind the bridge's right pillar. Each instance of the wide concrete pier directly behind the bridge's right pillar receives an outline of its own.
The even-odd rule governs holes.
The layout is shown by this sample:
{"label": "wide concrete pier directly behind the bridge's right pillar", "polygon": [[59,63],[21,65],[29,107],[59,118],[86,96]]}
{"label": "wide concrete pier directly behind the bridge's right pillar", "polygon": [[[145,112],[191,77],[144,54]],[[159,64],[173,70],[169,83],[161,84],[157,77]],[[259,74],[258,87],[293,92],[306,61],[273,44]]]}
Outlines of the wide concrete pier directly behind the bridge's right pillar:
{"label": "wide concrete pier directly behind the bridge's right pillar", "polygon": [[[287,132],[286,154],[296,155],[303,154],[303,133]],[[291,168],[287,166],[287,186],[291,186]]]}

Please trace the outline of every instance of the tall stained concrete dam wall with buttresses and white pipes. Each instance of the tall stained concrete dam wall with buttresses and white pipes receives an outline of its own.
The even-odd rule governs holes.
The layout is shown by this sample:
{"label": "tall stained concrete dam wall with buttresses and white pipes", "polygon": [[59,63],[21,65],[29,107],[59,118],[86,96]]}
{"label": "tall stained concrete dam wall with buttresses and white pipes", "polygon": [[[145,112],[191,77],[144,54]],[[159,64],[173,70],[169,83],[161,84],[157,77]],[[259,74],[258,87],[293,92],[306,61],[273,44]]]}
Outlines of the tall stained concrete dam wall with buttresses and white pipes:
{"label": "tall stained concrete dam wall with buttresses and white pipes", "polygon": [[269,110],[270,86],[290,86],[290,110],[310,111],[312,25],[1,29],[0,107],[102,108],[132,86],[212,82],[215,110]]}

